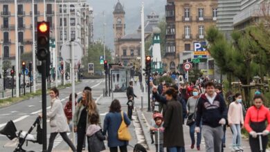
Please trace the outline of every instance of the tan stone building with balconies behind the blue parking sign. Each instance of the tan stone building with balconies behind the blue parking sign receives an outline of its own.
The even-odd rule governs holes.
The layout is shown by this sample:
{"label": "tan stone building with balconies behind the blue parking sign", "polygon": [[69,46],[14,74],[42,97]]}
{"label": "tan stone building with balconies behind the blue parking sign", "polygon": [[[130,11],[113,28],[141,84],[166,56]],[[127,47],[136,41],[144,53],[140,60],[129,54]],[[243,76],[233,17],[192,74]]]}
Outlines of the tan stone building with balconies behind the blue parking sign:
{"label": "tan stone building with balconies behind the blue parking sign", "polygon": [[[168,0],[165,6],[166,50],[163,66],[166,70],[180,70],[191,61],[194,43],[206,41],[206,30],[217,21],[217,0]],[[201,63],[205,64],[205,63]]]}

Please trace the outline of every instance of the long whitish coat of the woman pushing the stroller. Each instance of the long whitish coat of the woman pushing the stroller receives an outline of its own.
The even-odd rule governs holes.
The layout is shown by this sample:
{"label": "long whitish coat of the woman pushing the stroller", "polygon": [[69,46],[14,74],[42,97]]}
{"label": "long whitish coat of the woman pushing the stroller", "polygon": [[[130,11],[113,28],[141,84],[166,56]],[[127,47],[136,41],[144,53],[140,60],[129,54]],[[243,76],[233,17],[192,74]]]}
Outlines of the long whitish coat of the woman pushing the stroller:
{"label": "long whitish coat of the woman pushing the stroller", "polygon": [[50,118],[51,133],[70,131],[60,99],[55,98],[51,100],[51,109],[47,112],[47,117]]}

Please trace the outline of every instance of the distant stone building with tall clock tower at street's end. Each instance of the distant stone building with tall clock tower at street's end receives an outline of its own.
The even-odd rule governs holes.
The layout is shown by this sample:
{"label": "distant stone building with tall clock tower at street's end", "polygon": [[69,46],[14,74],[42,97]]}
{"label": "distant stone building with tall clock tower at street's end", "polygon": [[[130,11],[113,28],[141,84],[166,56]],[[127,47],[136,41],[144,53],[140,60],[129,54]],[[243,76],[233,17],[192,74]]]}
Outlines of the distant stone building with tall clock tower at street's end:
{"label": "distant stone building with tall clock tower at street's end", "polygon": [[[118,1],[114,6],[114,53],[116,61],[128,65],[132,59],[141,57],[141,26],[132,34],[125,33],[125,10],[123,5]],[[138,21],[141,23],[141,21]],[[145,21],[145,39],[149,39],[153,33],[153,28],[159,24],[159,15],[151,12],[147,15]],[[148,49],[148,48],[145,48]]]}

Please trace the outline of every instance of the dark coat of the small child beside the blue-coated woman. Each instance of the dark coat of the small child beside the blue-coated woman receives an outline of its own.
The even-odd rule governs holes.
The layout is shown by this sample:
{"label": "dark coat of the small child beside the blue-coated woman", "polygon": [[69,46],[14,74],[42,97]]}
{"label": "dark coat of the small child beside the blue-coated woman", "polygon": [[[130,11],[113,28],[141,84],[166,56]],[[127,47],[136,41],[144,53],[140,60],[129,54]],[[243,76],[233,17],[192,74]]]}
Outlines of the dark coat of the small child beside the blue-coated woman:
{"label": "dark coat of the small child beside the blue-coated woman", "polygon": [[104,151],[106,149],[104,140],[106,140],[106,137],[102,135],[101,130],[88,137],[88,146],[91,152]]}

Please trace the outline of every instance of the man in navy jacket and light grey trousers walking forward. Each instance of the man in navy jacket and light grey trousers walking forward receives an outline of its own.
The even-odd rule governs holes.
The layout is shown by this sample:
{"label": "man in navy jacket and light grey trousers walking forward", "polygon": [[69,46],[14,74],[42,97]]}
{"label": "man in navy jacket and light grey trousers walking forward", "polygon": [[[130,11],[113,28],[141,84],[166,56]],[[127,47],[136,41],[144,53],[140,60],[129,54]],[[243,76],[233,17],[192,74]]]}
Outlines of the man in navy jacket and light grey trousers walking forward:
{"label": "man in navy jacket and light grey trousers walking forward", "polygon": [[222,125],[226,124],[227,108],[223,97],[215,92],[213,82],[206,82],[205,87],[206,93],[201,95],[197,103],[195,131],[199,133],[202,130],[206,152],[220,152],[224,135]]}

